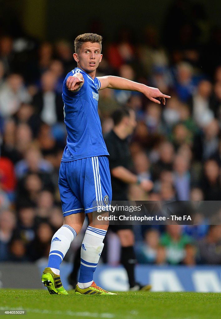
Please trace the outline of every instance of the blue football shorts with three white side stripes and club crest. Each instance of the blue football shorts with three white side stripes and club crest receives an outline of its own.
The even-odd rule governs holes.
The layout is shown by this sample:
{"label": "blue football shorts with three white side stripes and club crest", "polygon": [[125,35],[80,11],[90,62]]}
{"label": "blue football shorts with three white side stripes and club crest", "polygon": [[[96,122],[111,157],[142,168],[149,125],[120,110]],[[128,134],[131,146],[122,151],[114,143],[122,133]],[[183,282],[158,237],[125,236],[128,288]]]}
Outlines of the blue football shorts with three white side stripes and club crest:
{"label": "blue football shorts with three white side stripes and club crest", "polygon": [[112,189],[107,156],[61,162],[58,186],[64,216],[90,213],[110,204]]}

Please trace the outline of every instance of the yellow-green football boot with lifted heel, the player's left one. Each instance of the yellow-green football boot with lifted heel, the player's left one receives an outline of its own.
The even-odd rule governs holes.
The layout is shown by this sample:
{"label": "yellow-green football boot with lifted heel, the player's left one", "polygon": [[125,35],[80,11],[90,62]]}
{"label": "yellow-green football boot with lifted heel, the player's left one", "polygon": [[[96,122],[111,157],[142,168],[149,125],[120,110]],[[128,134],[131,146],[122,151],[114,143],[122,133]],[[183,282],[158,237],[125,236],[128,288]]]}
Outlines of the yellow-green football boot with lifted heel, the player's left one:
{"label": "yellow-green football boot with lifted heel, the player's left one", "polygon": [[43,271],[42,284],[48,288],[50,294],[68,295],[61,283],[60,275],[56,275],[49,267]]}

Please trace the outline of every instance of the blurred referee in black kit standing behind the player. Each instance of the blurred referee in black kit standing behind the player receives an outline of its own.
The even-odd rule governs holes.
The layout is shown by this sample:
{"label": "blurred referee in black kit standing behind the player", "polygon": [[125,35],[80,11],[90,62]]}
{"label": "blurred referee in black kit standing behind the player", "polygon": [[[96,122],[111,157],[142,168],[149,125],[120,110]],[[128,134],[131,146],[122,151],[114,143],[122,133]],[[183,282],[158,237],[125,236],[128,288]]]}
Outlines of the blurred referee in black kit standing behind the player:
{"label": "blurred referee in black kit standing behind the player", "polygon": [[[114,127],[104,137],[109,156],[109,166],[112,185],[112,201],[126,201],[129,184],[139,184],[145,191],[150,191],[153,183],[149,180],[140,180],[129,169],[132,159],[129,149],[128,137],[136,127],[136,117],[133,109],[122,108],[113,115]],[[134,252],[134,234],[132,225],[110,225],[109,229],[115,232],[121,243],[121,263],[128,275],[130,290],[149,290],[150,286],[141,286],[136,283],[134,268],[136,257]]]}

